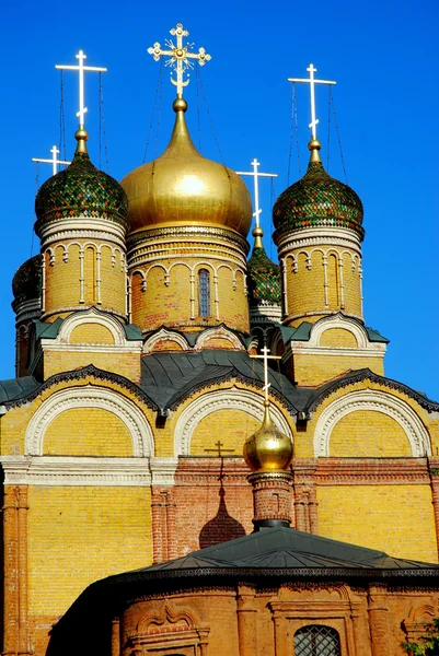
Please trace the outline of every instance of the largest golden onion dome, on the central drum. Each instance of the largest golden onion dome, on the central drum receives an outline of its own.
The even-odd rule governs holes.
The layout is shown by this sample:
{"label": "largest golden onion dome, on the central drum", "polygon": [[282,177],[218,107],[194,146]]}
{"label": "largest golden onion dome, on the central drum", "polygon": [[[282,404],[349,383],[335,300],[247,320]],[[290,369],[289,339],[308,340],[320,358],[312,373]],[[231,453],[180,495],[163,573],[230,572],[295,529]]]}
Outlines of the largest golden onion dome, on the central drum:
{"label": "largest golden onion dome, on the central drum", "polygon": [[213,225],[246,236],[252,221],[247,187],[236,173],[204,157],[192,142],[177,98],[174,130],[165,151],[122,180],[131,231],[157,225]]}

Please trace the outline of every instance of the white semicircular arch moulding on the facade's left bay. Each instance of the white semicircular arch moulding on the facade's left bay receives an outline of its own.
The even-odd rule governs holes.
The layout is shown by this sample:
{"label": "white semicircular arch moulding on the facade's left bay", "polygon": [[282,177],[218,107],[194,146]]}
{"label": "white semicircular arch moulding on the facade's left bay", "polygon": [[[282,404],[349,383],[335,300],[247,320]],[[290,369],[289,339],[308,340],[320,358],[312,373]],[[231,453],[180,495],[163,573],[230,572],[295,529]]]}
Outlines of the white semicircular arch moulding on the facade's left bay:
{"label": "white semicircular arch moulding on the facade's left bay", "polygon": [[27,424],[25,455],[42,456],[44,437],[50,423],[66,410],[74,408],[99,408],[112,412],[127,426],[132,442],[132,456],[141,458],[153,455],[152,430],[139,408],[116,391],[89,385],[56,391],[42,403]]}

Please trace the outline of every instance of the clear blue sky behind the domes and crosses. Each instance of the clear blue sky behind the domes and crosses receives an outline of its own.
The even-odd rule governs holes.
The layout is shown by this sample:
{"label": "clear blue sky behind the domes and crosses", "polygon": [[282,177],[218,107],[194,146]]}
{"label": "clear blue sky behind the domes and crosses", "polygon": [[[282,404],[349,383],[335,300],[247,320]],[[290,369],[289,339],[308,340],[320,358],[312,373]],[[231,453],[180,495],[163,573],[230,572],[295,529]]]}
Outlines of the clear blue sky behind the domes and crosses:
{"label": "clear blue sky behind the domes and crosses", "polygon": [[[365,204],[365,315],[391,343],[386,375],[439,399],[437,347],[439,274],[439,4],[437,0],[354,3],[348,0],[273,3],[176,2],[77,3],[24,1],[2,10],[3,248],[0,258],[2,359],[0,377],[14,375],[14,327],[10,281],[30,257],[36,165],[59,143],[60,73],[82,48],[90,66],[108,68],[103,79],[109,173],[120,179],[143,160],[160,65],[147,54],[162,45],[177,22],[196,49],[212,59],[195,72],[185,92],[187,121],[204,155],[249,169],[278,173],[275,196],[304,173],[309,140],[309,92],[297,89],[296,136],[291,134],[291,85],[312,61],[317,77],[336,80],[333,96],[349,185]],[[99,82],[86,80],[89,150],[99,164]],[[174,87],[162,74],[147,160],[166,144]],[[207,99],[207,107],[204,102]],[[67,156],[74,150],[77,75],[65,73]],[[317,90],[319,138],[326,165],[328,96]],[[213,137],[211,122],[215,128]],[[101,138],[101,162],[106,169]],[[345,181],[334,121],[330,173]],[[41,166],[39,181],[50,174]],[[261,190],[267,250],[272,189]],[[37,249],[34,238],[33,253]]]}

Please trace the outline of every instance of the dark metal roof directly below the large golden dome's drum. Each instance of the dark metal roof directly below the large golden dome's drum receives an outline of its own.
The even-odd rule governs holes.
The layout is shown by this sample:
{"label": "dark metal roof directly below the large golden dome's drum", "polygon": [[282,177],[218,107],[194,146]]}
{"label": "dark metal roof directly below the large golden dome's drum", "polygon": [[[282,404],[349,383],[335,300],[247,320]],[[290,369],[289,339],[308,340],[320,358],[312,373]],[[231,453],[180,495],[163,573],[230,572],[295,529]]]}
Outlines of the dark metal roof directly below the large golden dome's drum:
{"label": "dark metal roof directly below the large golden dome's drum", "polygon": [[[197,389],[231,378],[262,388],[263,364],[244,351],[153,353],[142,359],[140,386],[165,411]],[[270,371],[269,382],[272,394],[292,412],[299,410],[310,396],[310,390],[297,389],[282,374]]]}

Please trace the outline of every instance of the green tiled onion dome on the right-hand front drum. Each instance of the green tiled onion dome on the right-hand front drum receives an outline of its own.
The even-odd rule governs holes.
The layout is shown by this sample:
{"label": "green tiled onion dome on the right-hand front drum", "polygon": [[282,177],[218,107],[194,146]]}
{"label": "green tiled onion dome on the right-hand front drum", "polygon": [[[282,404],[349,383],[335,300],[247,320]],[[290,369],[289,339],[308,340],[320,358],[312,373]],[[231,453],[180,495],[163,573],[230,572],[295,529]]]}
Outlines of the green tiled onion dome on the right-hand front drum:
{"label": "green tiled onion dome on the right-hand front drum", "polygon": [[319,156],[320,143],[309,144],[311,160],[304,176],[288,187],[276,200],[273,220],[276,235],[305,227],[348,227],[365,236],[363,209],[357,194],[331,177]]}

